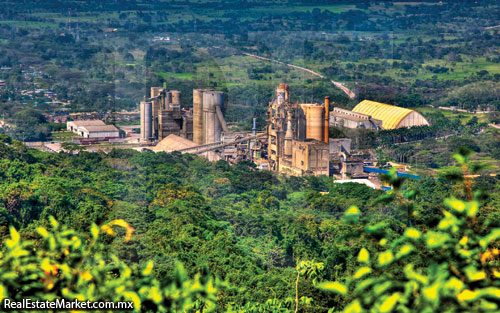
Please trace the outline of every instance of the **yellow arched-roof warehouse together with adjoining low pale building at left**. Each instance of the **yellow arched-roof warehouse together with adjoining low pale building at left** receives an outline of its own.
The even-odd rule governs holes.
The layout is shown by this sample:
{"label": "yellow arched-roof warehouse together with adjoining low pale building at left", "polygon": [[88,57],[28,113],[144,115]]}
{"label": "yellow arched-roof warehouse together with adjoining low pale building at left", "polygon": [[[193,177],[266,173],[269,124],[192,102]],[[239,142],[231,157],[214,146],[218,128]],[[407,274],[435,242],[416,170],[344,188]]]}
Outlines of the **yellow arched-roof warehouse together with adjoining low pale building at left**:
{"label": "yellow arched-roof warehouse together with adjoining low pale building at left", "polygon": [[352,111],[334,108],[330,113],[330,125],[378,130],[424,126],[429,122],[414,110],[363,100]]}

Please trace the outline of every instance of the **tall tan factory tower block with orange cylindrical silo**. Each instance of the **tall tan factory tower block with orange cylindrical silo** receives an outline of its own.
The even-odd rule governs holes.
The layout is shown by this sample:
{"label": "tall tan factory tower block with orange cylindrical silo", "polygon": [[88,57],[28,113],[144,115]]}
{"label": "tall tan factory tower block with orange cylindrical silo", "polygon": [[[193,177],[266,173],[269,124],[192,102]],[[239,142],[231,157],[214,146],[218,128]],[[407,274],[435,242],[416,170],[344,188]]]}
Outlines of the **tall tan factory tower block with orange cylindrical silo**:
{"label": "tall tan factory tower block with orange cylindrical silo", "polygon": [[324,104],[290,102],[288,85],[280,84],[267,111],[269,168],[291,175],[329,175],[328,112]]}

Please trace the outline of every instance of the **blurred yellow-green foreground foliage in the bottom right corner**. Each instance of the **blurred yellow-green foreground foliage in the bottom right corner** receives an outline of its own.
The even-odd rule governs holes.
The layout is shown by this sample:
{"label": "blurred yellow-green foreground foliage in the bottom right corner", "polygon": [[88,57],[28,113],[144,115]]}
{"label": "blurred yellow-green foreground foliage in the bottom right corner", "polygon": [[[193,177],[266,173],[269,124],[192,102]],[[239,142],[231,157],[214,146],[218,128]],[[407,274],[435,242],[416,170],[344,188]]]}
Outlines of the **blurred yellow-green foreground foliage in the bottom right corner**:
{"label": "blurred yellow-green foreground foliage in the bottom right corner", "polygon": [[[470,150],[454,157],[468,169]],[[470,188],[467,178],[464,184]],[[479,214],[478,198],[447,198],[437,226],[407,227],[371,252],[362,248],[353,275],[318,288],[349,294],[343,312],[497,312],[500,230],[485,227]]]}

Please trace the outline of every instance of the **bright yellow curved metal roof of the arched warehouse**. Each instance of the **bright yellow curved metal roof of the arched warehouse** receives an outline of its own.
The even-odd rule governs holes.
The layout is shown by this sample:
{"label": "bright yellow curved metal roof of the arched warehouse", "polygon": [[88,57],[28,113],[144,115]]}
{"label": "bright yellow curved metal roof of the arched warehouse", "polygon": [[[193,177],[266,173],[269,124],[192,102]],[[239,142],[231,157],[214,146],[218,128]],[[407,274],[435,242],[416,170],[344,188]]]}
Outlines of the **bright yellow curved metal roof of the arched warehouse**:
{"label": "bright yellow curved metal roof of the arched warehouse", "polygon": [[370,115],[381,120],[384,129],[397,128],[398,124],[414,110],[397,107],[390,104],[363,100],[353,110],[356,113]]}

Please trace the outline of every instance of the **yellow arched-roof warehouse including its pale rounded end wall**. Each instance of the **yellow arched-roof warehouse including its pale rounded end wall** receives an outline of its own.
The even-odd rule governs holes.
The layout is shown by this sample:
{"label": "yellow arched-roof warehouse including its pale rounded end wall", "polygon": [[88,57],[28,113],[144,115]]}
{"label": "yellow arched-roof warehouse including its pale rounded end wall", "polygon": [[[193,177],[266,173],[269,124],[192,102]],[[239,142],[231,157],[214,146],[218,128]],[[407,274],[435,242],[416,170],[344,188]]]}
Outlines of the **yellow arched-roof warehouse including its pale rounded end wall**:
{"label": "yellow arched-roof warehouse including its pale rounded end wall", "polygon": [[429,122],[414,110],[370,100],[361,101],[352,111],[381,120],[384,129],[429,125]]}

